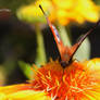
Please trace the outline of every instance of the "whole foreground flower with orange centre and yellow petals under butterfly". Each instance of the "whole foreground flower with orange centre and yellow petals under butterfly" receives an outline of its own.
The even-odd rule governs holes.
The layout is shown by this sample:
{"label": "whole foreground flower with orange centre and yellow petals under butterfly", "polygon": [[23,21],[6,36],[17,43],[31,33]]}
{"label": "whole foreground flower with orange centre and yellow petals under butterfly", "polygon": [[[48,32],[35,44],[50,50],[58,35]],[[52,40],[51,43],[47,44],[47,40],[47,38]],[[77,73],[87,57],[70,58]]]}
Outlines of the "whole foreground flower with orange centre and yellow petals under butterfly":
{"label": "whole foreground flower with orange centre and yellow petals under butterfly", "polygon": [[[35,65],[34,65],[35,66]],[[59,61],[33,68],[29,84],[0,87],[0,100],[99,100],[100,59],[77,62],[64,70]]]}

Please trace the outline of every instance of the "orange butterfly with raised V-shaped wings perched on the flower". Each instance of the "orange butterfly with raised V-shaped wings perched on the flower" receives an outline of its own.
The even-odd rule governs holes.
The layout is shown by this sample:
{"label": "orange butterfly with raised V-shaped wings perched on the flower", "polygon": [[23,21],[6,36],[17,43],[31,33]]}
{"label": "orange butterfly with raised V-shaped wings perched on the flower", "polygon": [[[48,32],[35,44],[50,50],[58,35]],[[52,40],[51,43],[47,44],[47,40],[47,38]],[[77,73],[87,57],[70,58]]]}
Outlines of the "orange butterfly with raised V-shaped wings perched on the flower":
{"label": "orange butterfly with raised V-shaped wings perched on the flower", "polygon": [[95,28],[99,25],[100,21],[98,21],[97,24],[89,32],[87,32],[74,46],[67,47],[67,46],[63,45],[57,28],[54,27],[54,25],[51,24],[51,22],[47,17],[45,11],[42,10],[42,7],[39,5],[39,8],[41,9],[43,15],[46,16],[47,23],[48,23],[48,25],[51,28],[51,32],[53,34],[54,40],[57,42],[57,46],[58,46],[58,49],[59,49],[59,52],[61,55],[61,61],[60,61],[61,65],[63,67],[65,67],[73,61],[73,55],[75,54],[75,52],[77,51],[77,49],[79,48],[82,42],[86,39],[86,37],[89,34],[91,34],[95,30]]}

